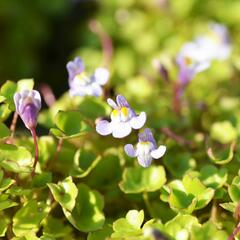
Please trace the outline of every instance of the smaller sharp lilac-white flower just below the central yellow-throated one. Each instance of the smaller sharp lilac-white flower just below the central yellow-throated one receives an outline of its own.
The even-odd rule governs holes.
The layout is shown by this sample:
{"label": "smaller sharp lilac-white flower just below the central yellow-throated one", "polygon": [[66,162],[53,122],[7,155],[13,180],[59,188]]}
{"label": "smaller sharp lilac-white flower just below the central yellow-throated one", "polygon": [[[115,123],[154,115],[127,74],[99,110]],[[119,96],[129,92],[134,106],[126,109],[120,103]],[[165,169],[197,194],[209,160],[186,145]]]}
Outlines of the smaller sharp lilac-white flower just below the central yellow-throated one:
{"label": "smaller sharp lilac-white flower just below the central yellow-throated one", "polygon": [[132,144],[127,144],[124,146],[124,151],[129,157],[137,157],[138,163],[146,168],[151,165],[153,158],[159,159],[164,155],[166,146],[157,147],[151,130],[145,128],[142,133],[138,134],[137,148],[134,149]]}

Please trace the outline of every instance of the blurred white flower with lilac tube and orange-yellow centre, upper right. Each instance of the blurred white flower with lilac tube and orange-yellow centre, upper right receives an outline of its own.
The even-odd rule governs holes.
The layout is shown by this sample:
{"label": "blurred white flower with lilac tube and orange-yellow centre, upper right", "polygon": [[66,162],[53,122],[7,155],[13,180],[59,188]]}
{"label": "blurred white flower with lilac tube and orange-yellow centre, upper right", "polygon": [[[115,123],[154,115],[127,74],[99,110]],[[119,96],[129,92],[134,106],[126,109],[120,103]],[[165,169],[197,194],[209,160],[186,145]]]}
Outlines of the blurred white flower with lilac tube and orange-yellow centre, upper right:
{"label": "blurred white flower with lilac tube and orange-yellow centre, upper right", "polygon": [[193,77],[210,67],[210,60],[206,60],[203,49],[197,43],[186,43],[177,55],[179,67],[178,79],[181,85],[187,85]]}

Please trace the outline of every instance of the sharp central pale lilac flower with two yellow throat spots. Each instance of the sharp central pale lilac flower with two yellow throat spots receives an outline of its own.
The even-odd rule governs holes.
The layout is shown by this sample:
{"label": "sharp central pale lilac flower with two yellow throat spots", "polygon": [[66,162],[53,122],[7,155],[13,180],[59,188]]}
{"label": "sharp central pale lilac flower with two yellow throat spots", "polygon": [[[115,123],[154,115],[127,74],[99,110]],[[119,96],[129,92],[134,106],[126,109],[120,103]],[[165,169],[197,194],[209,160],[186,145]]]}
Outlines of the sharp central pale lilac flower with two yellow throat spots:
{"label": "sharp central pale lilac flower with two yellow throat spots", "polygon": [[108,104],[114,109],[111,113],[111,122],[101,120],[96,125],[96,131],[105,136],[112,133],[115,138],[129,135],[133,129],[140,129],[146,122],[146,113],[137,115],[122,95],[118,95],[115,103],[111,98]]}

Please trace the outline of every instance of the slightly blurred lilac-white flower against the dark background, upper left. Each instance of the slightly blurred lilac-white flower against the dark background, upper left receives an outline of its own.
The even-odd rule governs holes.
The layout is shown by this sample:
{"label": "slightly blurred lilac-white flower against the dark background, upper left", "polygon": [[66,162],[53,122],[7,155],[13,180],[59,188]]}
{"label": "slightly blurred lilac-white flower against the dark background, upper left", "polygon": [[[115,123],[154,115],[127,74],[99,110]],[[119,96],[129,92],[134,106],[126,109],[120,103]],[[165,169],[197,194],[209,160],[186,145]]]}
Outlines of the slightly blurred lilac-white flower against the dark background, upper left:
{"label": "slightly blurred lilac-white flower against the dark background, upper left", "polygon": [[68,83],[71,96],[96,96],[102,95],[102,87],[109,79],[109,71],[106,68],[99,67],[92,76],[85,72],[85,66],[81,58],[76,57],[68,62]]}

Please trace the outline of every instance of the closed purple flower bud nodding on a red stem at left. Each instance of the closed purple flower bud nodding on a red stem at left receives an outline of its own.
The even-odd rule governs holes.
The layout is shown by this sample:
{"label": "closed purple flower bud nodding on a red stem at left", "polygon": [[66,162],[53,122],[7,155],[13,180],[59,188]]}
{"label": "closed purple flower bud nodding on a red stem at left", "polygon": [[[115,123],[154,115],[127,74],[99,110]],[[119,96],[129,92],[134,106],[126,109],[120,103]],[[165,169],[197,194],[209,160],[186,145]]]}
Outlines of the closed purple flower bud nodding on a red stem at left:
{"label": "closed purple flower bud nodding on a red stem at left", "polygon": [[41,109],[41,96],[36,90],[24,90],[14,94],[16,111],[29,129],[35,129],[38,112]]}

